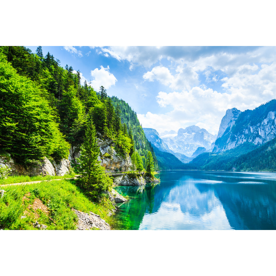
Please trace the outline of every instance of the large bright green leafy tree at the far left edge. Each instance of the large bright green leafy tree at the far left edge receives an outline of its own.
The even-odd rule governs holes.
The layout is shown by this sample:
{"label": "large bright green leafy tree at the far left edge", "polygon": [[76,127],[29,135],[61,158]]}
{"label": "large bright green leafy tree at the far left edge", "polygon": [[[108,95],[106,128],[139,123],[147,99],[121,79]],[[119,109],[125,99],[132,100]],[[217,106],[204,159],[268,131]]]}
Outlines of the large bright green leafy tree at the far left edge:
{"label": "large bright green leafy tree at the far left edge", "polygon": [[69,144],[59,132],[46,99],[0,54],[0,147],[18,161],[68,157]]}

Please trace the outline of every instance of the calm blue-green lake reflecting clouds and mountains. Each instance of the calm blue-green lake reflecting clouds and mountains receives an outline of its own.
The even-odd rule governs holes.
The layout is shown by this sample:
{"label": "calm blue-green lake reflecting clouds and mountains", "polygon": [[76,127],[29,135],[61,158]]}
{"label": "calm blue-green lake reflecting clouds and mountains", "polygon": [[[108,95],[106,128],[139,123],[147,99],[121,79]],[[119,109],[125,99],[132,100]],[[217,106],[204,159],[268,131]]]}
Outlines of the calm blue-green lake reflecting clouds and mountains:
{"label": "calm blue-green lake reflecting clouds and mountains", "polygon": [[118,186],[112,229],[276,229],[276,173],[162,171],[157,185]]}

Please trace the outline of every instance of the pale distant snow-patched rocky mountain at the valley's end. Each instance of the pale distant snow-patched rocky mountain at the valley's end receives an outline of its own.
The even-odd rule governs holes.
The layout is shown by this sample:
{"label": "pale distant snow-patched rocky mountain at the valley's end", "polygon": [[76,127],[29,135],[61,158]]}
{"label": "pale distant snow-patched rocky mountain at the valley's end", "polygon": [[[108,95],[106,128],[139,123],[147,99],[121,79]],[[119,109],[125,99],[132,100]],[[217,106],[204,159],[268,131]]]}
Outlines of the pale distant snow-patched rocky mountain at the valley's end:
{"label": "pale distant snow-patched rocky mountain at the valley's end", "polygon": [[[173,137],[167,137],[174,135]],[[217,135],[209,133],[206,129],[198,126],[188,126],[180,128],[177,134],[166,134],[161,136],[162,140],[168,145],[174,153],[181,153],[191,157],[198,147],[204,147],[210,150],[212,143],[216,140]]]}

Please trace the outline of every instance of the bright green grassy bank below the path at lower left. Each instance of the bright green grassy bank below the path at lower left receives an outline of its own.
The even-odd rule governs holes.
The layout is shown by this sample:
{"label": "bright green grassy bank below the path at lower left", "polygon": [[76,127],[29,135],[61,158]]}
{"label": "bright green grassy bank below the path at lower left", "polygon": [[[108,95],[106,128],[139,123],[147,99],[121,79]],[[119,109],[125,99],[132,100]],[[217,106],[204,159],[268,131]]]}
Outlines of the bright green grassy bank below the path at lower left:
{"label": "bright green grassy bank below the path at lower left", "polygon": [[[74,230],[78,219],[71,208],[86,213],[91,211],[107,222],[110,221],[107,214],[113,209],[111,201],[107,198],[103,198],[100,203],[89,200],[85,191],[77,187],[74,180],[7,186],[5,191],[4,197],[0,199],[2,229],[35,229],[33,223],[38,221],[39,224],[47,225],[49,230]],[[28,198],[22,200],[26,194]],[[39,198],[47,206],[48,215],[40,209],[34,211],[27,208],[34,203],[35,198]],[[21,219],[24,211],[28,211],[28,214],[25,214],[26,218]]]}

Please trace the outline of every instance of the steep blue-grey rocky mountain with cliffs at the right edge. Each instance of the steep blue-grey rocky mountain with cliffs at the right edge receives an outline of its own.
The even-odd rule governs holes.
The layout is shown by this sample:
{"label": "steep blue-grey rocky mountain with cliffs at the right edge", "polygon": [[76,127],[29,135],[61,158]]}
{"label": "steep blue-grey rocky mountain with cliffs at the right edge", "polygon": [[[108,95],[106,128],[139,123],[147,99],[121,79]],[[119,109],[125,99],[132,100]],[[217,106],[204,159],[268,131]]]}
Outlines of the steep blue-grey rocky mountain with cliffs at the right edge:
{"label": "steep blue-grey rocky mountain with cliffs at the right edge", "polygon": [[227,110],[222,118],[213,152],[223,152],[246,142],[262,145],[276,136],[276,100],[254,110]]}

